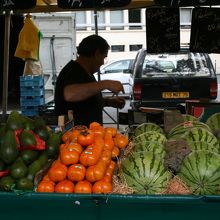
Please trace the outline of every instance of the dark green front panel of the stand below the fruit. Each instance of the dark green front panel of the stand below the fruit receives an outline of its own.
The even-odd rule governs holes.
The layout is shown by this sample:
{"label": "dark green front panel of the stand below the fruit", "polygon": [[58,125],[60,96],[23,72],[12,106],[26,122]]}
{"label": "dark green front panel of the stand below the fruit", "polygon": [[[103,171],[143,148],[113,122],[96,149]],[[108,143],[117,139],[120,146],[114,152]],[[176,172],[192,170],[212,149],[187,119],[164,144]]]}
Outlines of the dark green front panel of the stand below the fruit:
{"label": "dark green front panel of the stand below the fruit", "polygon": [[0,194],[0,218],[218,219],[220,196]]}

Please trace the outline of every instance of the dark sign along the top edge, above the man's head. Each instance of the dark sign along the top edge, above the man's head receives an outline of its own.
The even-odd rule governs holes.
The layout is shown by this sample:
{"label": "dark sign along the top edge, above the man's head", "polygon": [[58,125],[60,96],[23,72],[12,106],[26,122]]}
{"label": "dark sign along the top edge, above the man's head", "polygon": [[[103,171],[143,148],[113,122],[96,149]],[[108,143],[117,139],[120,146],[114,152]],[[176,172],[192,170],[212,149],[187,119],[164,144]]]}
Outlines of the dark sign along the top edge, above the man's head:
{"label": "dark sign along the top edge, above the man's head", "polygon": [[131,0],[57,0],[58,7],[64,9],[122,7],[130,2]]}

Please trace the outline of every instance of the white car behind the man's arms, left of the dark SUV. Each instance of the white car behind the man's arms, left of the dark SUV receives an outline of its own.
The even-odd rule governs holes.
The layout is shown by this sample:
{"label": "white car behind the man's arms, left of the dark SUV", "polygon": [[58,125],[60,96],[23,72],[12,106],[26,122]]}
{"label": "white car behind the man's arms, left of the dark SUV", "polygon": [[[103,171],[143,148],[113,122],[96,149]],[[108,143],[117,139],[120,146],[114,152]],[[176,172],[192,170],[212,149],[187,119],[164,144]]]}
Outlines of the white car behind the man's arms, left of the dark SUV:
{"label": "white car behind the man's arms, left of the dark SUV", "polygon": [[[130,97],[131,95],[131,68],[134,59],[120,59],[106,63],[100,67],[100,79],[111,79],[118,80],[122,83],[124,87],[125,94],[120,94],[121,96]],[[94,74],[96,80],[98,80],[98,73]],[[104,96],[111,96],[112,92],[109,90],[104,90]]]}

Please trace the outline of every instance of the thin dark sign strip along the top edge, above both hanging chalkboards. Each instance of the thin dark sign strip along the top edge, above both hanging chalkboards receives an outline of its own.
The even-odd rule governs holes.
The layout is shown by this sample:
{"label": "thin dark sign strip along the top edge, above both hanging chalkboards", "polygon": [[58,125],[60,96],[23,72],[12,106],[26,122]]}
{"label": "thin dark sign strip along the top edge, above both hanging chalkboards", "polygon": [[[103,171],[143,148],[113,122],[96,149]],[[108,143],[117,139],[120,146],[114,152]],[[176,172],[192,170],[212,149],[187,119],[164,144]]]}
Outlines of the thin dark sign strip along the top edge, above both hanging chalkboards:
{"label": "thin dark sign strip along the top edge, above both hanging chalkboards", "polygon": [[220,5],[220,0],[154,0],[156,5],[186,7]]}

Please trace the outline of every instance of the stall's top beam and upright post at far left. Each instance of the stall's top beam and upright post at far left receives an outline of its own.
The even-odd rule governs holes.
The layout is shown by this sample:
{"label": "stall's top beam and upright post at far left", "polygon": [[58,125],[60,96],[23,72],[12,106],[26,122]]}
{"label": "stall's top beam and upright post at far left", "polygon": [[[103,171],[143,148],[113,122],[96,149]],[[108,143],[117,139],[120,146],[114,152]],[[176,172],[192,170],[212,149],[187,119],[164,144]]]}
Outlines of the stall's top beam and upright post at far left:
{"label": "stall's top beam and upright post at far left", "polygon": [[[43,1],[43,0],[32,0],[28,4],[24,4],[20,1],[2,1],[0,4],[0,11],[5,14],[5,36],[4,36],[4,65],[3,65],[3,98],[2,98],[2,110],[3,117],[7,114],[7,105],[8,105],[8,65],[9,65],[9,38],[10,38],[10,20],[11,13],[15,14],[26,14],[26,13],[40,13],[40,12],[61,12],[61,11],[74,11],[74,10],[104,10],[104,9],[125,9],[125,8],[138,8],[138,7],[147,7],[154,5],[153,0],[149,1],[137,1],[137,0],[124,0],[119,1],[120,7],[117,7],[115,2],[117,1],[103,1],[103,3],[94,3],[98,4],[95,6],[91,4],[91,1],[84,1],[85,5],[81,5],[81,1],[68,1],[68,4],[65,5],[66,1],[57,0]],[[99,1],[98,1],[99,2]]]}

